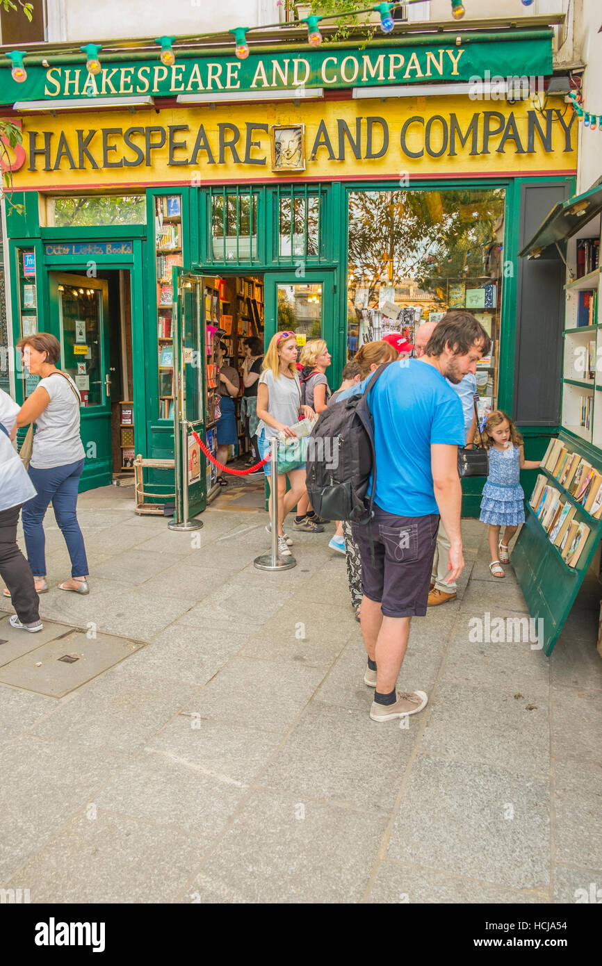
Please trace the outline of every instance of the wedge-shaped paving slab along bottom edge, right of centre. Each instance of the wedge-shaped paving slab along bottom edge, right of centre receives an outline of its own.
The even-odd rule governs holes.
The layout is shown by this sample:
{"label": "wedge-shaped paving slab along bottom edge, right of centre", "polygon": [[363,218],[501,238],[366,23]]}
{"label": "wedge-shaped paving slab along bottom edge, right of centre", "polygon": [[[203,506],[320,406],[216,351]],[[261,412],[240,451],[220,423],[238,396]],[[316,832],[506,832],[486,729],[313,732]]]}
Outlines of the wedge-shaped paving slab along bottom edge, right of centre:
{"label": "wedge-shaped paving slab along bottom edge, right of centre", "polygon": [[462,878],[430,868],[404,866],[385,860],[379,866],[370,889],[371,903],[453,903],[461,905],[526,904],[549,902],[544,890],[521,891],[492,886],[489,882]]}

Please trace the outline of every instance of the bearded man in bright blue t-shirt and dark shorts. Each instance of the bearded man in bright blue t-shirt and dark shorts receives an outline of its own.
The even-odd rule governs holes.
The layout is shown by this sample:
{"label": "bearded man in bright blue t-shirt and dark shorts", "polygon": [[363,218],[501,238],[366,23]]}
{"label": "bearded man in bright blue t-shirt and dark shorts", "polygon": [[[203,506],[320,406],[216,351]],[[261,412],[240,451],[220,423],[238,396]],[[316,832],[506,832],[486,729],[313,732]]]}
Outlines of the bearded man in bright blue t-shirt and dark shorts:
{"label": "bearded man in bright blue t-shirt and dark shorts", "polygon": [[448,576],[464,568],[458,446],[466,441],[462,403],[447,384],[476,371],[489,352],[484,328],[467,311],[447,312],[419,359],[391,363],[370,389],[374,418],[374,519],[353,526],[361,555],[364,681],[376,688],[373,721],[421,711],[422,691],[395,693],[413,616],[424,616],[440,515],[448,534]]}

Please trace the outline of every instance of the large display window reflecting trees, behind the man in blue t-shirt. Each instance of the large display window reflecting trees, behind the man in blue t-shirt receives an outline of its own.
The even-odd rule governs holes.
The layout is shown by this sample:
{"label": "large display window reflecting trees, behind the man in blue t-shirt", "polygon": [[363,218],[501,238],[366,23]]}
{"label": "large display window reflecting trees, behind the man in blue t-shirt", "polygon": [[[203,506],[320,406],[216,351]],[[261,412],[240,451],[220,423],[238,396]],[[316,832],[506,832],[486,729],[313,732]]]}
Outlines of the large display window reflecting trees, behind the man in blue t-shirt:
{"label": "large display window reflecting trees, behind the man in blue t-shirt", "polygon": [[504,203],[503,188],[350,192],[348,355],[388,332],[414,343],[422,323],[466,308],[492,339],[477,365],[479,416],[495,409]]}

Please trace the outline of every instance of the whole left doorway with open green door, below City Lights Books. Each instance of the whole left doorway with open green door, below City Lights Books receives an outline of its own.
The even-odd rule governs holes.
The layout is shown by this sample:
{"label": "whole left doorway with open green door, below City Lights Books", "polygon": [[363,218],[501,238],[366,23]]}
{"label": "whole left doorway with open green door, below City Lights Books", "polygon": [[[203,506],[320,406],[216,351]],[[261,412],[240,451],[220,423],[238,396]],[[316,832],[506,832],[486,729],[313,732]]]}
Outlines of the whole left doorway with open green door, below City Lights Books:
{"label": "whole left doorway with open green door, below City Lights Books", "polygon": [[86,462],[80,489],[133,472],[133,380],[129,270],[48,272],[49,329],[60,367],[81,396]]}

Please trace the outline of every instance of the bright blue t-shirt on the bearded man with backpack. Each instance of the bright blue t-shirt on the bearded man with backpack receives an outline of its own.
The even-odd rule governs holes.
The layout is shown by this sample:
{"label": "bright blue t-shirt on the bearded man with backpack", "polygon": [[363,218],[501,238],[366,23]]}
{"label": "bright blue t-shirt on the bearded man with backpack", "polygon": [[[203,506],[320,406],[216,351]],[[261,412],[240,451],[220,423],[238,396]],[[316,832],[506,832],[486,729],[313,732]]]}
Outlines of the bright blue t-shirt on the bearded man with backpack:
{"label": "bright blue t-shirt on the bearded man with backpack", "polygon": [[403,359],[388,366],[370,389],[368,403],[374,416],[375,503],[401,517],[439,513],[431,445],[466,442],[457,392],[428,362]]}

